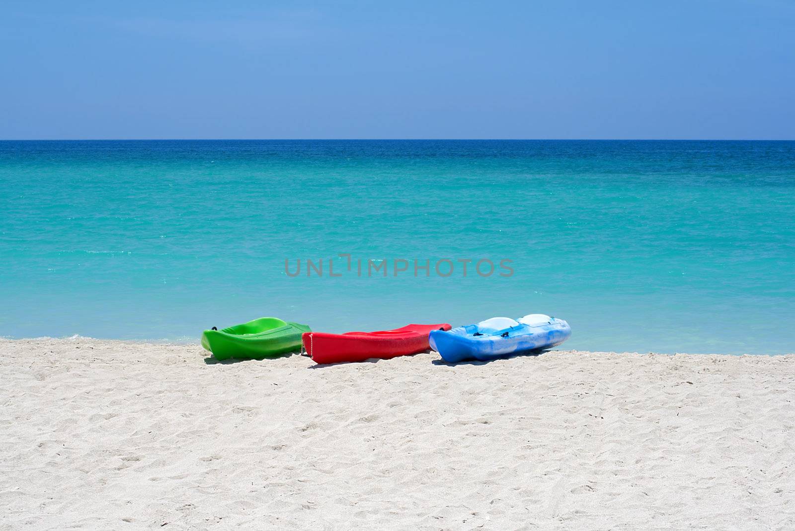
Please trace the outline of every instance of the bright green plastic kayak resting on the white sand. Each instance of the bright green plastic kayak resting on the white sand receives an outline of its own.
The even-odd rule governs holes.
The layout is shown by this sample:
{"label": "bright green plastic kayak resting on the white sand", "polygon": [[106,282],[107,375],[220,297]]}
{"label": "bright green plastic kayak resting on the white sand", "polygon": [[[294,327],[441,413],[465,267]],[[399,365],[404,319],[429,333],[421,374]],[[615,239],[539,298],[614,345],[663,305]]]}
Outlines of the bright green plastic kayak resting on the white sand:
{"label": "bright green plastic kayak resting on the white sand", "polygon": [[215,359],[278,358],[301,350],[301,334],[310,331],[305,324],[287,323],[275,317],[261,317],[233,327],[205,330],[201,346]]}

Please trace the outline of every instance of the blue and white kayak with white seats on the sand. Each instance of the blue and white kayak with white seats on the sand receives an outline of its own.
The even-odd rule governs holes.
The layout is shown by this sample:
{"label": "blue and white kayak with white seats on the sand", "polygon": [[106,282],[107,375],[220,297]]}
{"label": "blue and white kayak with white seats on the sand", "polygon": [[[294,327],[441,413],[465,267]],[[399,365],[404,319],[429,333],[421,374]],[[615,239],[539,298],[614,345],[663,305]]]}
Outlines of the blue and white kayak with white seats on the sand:
{"label": "blue and white kayak with white seats on the sand", "polygon": [[478,324],[433,330],[431,348],[448,363],[467,359],[499,358],[500,356],[535,351],[560,345],[572,335],[572,328],[562,319],[532,313],[521,319],[492,317]]}

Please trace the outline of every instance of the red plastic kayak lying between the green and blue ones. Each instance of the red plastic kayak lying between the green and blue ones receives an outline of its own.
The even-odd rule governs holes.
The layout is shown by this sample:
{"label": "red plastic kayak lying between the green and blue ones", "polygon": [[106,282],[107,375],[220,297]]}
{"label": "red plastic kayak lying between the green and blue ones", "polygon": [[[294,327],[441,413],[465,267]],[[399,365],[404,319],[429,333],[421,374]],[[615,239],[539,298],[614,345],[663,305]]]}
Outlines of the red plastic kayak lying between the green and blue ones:
{"label": "red plastic kayak lying between the green and blue ones", "polygon": [[363,362],[370,358],[390,359],[427,351],[432,330],[450,330],[450,325],[409,324],[394,330],[324,334],[304,332],[304,350],[316,363]]}

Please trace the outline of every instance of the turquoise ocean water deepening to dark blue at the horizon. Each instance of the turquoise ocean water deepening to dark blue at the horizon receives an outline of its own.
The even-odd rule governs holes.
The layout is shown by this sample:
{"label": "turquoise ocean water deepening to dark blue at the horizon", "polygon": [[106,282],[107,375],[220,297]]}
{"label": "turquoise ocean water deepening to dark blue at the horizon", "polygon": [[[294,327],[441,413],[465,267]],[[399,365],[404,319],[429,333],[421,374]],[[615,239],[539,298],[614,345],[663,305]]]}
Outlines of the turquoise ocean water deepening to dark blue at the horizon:
{"label": "turquoise ocean water deepening to dark blue at the horizon", "polygon": [[0,187],[3,336],[542,312],[578,349],[795,351],[791,141],[2,141]]}

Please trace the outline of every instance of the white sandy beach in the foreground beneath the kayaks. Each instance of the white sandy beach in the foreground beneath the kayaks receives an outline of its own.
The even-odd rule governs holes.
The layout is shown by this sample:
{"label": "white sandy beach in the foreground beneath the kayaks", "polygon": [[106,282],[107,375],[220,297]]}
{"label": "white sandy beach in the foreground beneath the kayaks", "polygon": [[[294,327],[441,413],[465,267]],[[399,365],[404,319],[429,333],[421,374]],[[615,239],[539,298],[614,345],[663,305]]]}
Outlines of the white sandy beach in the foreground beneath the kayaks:
{"label": "white sandy beach in the foreground beneath the kayaks", "polygon": [[0,529],[793,529],[795,355],[0,340]]}

